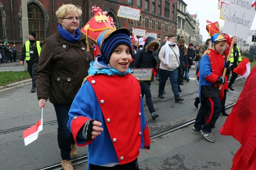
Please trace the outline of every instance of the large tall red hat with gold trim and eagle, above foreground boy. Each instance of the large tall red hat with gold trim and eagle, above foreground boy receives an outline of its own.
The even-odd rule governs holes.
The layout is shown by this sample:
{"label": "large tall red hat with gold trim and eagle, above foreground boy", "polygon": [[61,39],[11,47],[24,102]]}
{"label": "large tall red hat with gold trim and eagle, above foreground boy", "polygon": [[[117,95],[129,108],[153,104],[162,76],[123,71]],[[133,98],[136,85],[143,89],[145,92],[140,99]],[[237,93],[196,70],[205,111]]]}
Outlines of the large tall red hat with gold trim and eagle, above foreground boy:
{"label": "large tall red hat with gold trim and eagle, above foreground boy", "polygon": [[[92,7],[94,16],[85,24],[81,29],[81,32],[86,35],[86,45],[89,51],[89,41],[88,37],[95,42],[100,48],[102,41],[108,37],[111,33],[116,31],[115,22],[112,17],[106,16],[107,12],[102,12],[102,10],[96,5]],[[117,29],[119,30],[119,29]],[[128,29],[122,29],[127,32],[130,36],[130,31]]]}

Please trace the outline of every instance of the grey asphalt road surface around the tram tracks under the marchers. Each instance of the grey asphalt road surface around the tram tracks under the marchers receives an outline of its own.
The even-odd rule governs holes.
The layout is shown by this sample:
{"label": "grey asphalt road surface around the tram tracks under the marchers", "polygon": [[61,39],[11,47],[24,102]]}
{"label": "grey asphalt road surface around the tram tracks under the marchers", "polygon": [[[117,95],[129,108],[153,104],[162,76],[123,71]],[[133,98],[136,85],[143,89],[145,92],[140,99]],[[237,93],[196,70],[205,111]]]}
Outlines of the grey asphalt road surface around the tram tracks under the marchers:
{"label": "grey asphalt road surface around the tram tracks under the marchers", "polygon": [[[195,68],[191,68],[189,82],[181,86],[182,94],[198,90],[195,78]],[[226,104],[236,101],[242,91],[245,80],[236,80],[233,84],[235,91],[227,93]],[[35,124],[41,118],[36,93],[31,93],[31,82],[15,85],[0,90],[0,130],[11,129],[24,125]],[[164,97],[173,97],[170,82],[166,83]],[[159,100],[158,82],[151,85],[153,101]],[[154,104],[159,117],[151,119],[147,107],[145,116],[148,120],[150,133],[157,132],[170,125],[195,118],[198,109],[194,106],[194,99],[198,94],[184,96],[183,102],[174,100]],[[145,99],[144,99],[145,101]],[[231,109],[227,109],[227,113]],[[53,104],[46,102],[43,122],[56,120]],[[167,135],[152,140],[148,153],[142,151],[139,156],[141,170],[166,169],[230,169],[232,158],[240,147],[239,142],[230,136],[222,136],[219,129],[226,117],[220,116],[213,129],[215,143],[207,141],[202,135],[192,133],[193,125],[176,130]],[[23,131],[0,135],[0,169],[42,169],[61,162],[57,144],[57,125],[47,125],[39,133],[39,138],[24,146]],[[79,155],[87,154],[87,147],[79,147]],[[73,158],[73,157],[72,157]],[[77,170],[86,169],[86,164],[74,167]]]}

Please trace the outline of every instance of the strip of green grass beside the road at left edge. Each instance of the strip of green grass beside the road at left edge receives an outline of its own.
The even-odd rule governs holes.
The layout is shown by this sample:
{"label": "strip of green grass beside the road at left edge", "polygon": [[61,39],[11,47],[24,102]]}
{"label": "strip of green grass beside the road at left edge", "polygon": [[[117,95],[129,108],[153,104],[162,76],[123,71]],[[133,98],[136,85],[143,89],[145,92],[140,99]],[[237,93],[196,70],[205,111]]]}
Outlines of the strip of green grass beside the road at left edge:
{"label": "strip of green grass beside the road at left edge", "polygon": [[26,71],[0,71],[0,86],[31,79]]}

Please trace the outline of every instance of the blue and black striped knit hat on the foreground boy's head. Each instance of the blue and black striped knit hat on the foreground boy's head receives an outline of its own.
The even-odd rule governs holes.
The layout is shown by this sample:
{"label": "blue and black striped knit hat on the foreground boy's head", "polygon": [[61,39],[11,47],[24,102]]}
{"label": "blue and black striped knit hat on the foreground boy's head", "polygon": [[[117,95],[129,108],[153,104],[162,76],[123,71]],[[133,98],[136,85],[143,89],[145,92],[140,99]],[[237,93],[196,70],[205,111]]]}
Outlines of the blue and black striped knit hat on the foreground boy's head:
{"label": "blue and black striped knit hat on the foreground boy's head", "polygon": [[130,52],[132,52],[131,39],[127,33],[124,33],[122,30],[116,30],[107,38],[105,38],[101,44],[101,61],[103,61],[105,64],[108,64],[111,54],[115,48],[121,44],[127,45],[130,49]]}

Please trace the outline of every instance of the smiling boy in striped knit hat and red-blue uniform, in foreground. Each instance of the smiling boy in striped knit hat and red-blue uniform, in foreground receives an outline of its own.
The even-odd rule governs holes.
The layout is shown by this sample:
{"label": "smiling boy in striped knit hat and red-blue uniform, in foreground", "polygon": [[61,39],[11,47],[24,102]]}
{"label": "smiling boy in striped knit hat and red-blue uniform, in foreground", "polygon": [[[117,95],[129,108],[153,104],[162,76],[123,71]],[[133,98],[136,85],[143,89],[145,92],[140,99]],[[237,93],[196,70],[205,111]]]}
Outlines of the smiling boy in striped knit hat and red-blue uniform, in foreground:
{"label": "smiling boy in striped knit hat and red-blue uniform, in foreground", "polygon": [[88,145],[87,169],[136,170],[139,152],[148,152],[151,141],[140,83],[128,67],[130,32],[113,28],[101,37],[101,55],[90,63],[70,108],[68,128],[77,146]]}

